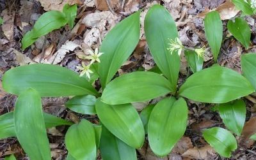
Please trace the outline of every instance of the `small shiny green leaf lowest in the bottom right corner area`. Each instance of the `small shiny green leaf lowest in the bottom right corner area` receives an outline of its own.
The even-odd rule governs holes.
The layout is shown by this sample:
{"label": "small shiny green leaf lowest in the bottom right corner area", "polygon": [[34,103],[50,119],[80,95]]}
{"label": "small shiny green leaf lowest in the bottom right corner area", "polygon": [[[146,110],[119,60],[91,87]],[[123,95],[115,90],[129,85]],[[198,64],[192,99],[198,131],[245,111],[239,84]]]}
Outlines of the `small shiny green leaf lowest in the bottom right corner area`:
{"label": "small shiny green leaf lowest in the bottom right corner area", "polygon": [[236,138],[226,129],[212,127],[203,132],[204,139],[223,157],[230,157],[231,152],[237,149]]}

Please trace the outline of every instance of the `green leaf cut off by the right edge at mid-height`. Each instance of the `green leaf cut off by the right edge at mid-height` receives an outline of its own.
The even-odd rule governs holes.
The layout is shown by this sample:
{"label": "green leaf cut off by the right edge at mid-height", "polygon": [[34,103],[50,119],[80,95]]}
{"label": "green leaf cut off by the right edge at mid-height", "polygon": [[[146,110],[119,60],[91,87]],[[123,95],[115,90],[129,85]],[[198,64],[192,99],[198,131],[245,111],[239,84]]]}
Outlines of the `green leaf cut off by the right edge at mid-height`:
{"label": "green leaf cut off by the right edge at mid-height", "polygon": [[241,59],[243,75],[251,82],[256,90],[256,54],[244,54]]}

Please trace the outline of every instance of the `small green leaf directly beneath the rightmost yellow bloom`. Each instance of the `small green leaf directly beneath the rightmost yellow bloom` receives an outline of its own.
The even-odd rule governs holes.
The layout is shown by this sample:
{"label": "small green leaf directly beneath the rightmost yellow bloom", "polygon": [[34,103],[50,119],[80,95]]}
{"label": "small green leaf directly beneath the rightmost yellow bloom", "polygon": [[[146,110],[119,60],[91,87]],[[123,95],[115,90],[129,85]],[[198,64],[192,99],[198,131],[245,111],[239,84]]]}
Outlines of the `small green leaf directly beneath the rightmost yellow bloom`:
{"label": "small green leaf directly beneath the rightmost yellow bloom", "polygon": [[194,50],[185,50],[184,54],[193,73],[202,70],[204,64],[203,57],[198,56]]}

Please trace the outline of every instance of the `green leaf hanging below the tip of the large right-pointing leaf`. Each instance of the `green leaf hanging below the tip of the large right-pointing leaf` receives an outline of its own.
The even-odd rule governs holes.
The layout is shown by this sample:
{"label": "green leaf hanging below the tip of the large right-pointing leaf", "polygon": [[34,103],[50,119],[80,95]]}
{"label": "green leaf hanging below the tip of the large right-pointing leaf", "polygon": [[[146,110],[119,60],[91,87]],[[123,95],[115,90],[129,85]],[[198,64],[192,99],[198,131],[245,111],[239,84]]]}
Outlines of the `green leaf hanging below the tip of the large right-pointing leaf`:
{"label": "green leaf hanging below the tip of the large right-pointing leaf", "polygon": [[225,126],[230,131],[240,136],[246,117],[246,106],[243,99],[220,104],[219,112]]}

